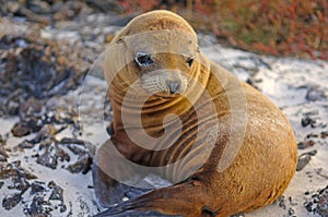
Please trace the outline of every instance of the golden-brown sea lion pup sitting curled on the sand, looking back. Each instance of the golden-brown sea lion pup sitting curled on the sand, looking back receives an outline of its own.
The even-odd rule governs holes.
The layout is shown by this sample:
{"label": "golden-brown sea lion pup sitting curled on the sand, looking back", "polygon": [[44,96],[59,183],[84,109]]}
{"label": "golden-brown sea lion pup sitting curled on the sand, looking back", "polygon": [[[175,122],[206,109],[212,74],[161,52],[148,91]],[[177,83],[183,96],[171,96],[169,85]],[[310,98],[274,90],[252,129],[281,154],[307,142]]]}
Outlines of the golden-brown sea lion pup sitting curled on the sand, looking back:
{"label": "golden-brown sea lion pup sitting curled on the sand, looking back", "polygon": [[[296,168],[290,123],[261,93],[208,60],[185,20],[142,14],[112,46],[105,76],[113,135],[97,152],[93,178],[99,201],[119,204],[98,216],[134,209],[230,216],[282,194]],[[116,186],[129,185],[136,169],[175,184],[120,203],[114,197],[125,192]]]}

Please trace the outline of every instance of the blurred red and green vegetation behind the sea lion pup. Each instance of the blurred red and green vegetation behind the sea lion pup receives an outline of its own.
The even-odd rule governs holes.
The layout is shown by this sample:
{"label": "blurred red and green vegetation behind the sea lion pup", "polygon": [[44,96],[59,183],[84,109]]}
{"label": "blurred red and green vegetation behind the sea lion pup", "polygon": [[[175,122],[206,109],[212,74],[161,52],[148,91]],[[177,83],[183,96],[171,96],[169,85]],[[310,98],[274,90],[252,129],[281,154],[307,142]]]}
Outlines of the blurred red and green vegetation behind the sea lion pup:
{"label": "blurred red and green vegetation behind the sea lion pup", "polygon": [[[168,9],[235,47],[328,60],[327,0],[120,0],[128,13]],[[192,14],[192,15],[190,15]]]}

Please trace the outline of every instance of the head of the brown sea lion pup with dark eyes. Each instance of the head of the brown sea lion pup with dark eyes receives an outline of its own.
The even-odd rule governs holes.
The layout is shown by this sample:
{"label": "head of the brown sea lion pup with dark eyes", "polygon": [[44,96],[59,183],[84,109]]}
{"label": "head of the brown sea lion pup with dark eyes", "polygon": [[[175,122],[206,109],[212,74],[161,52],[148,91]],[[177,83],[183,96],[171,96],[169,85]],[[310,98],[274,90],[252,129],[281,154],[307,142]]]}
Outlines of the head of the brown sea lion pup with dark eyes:
{"label": "head of the brown sea lion pup with dark eyes", "polygon": [[137,95],[171,98],[187,94],[192,80],[206,84],[197,35],[172,12],[153,11],[133,19],[112,46],[105,70],[107,82],[117,89],[133,87]]}

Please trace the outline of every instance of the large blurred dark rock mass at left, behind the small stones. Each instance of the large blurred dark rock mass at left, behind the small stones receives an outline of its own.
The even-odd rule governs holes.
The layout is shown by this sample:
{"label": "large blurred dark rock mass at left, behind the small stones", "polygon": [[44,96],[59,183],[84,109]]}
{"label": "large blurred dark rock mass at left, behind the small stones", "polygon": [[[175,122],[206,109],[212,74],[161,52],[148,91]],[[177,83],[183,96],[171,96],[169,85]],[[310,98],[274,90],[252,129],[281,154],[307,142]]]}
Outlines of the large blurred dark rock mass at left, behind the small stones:
{"label": "large blurred dark rock mass at left, behind the small stones", "polygon": [[49,97],[77,88],[87,70],[73,48],[39,36],[4,35],[0,51],[0,114],[40,114]]}

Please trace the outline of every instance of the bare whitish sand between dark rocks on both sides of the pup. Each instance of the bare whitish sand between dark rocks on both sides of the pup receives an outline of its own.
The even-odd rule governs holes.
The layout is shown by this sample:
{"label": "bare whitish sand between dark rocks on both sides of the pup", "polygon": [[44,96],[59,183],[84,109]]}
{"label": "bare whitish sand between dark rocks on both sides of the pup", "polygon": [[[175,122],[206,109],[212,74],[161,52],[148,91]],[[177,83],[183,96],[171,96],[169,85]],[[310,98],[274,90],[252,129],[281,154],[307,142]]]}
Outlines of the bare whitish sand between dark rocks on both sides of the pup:
{"label": "bare whitish sand between dark rocks on both sides of the pup", "polygon": [[[328,185],[328,137],[321,136],[321,132],[328,131],[328,62],[257,56],[235,49],[213,48],[210,44],[202,45],[202,51],[242,80],[251,81],[260,92],[273,100],[292,123],[297,142],[305,143],[309,140],[314,142],[314,145],[300,149],[298,156],[317,150],[317,154],[311,157],[309,162],[295,173],[282,197],[272,205],[241,216],[320,216],[316,212],[308,212],[305,204],[313,200],[312,196],[319,189]],[[81,88],[54,100],[57,104],[70,101],[77,108],[80,106],[84,123],[81,138],[99,145],[108,138],[105,132],[107,122],[98,118],[104,108],[106,83],[102,77],[93,75],[98,75],[98,73],[91,71],[86,83]],[[301,124],[302,119],[306,117],[315,120],[312,126]],[[73,174],[61,167],[52,170],[36,164],[31,156],[37,149],[15,148],[21,141],[26,138],[16,138],[11,134],[10,130],[16,121],[16,119],[0,119],[0,134],[8,135],[5,148],[12,150],[9,152],[8,161],[21,160],[22,167],[36,174],[38,181],[48,183],[54,180],[63,189],[63,201],[68,209],[59,213],[56,207],[52,207],[52,216],[96,214],[97,206],[92,189],[91,171],[86,174]],[[33,135],[28,136],[33,137]],[[73,136],[73,130],[67,129],[56,135],[56,138],[60,140],[63,136]],[[66,162],[60,164],[65,167]],[[1,200],[10,192],[8,185],[10,185],[10,180],[4,180],[4,184],[0,188]],[[25,192],[24,203],[17,204],[10,210],[0,206],[0,216],[24,216],[23,209],[28,206],[30,196],[28,191]]]}

